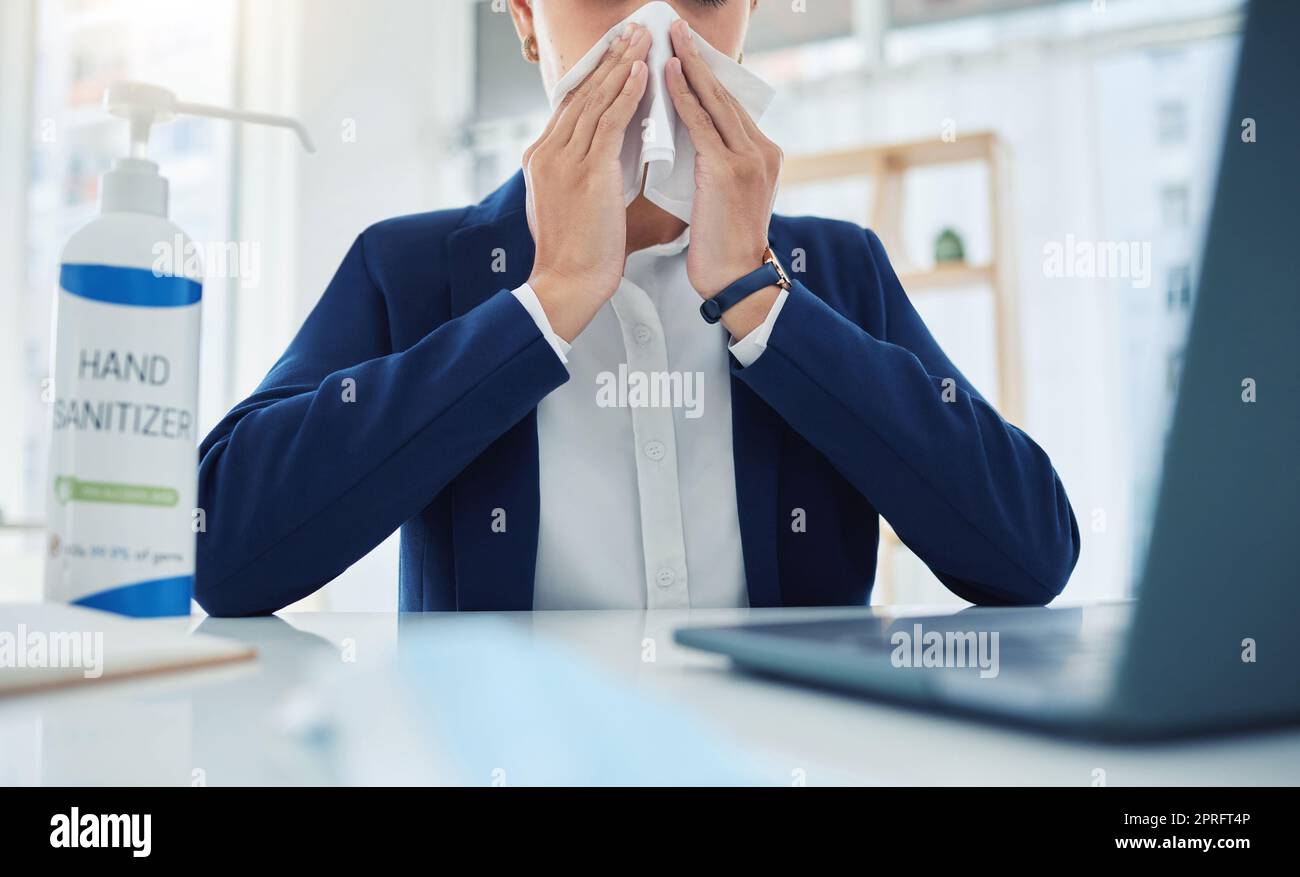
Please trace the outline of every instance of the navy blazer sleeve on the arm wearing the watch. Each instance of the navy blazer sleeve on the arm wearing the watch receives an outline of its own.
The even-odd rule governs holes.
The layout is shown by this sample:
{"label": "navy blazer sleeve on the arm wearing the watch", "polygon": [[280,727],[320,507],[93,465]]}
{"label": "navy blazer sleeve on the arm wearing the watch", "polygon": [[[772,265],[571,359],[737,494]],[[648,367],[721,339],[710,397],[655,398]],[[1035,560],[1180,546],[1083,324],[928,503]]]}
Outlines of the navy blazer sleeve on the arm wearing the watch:
{"label": "navy blazer sleeve on the arm wearing the watch", "polygon": [[[796,282],[766,352],[733,373],[816,447],[962,599],[1044,604],[1079,557],[1048,455],[957,370],[879,238],[855,259],[879,291],[875,337]],[[863,259],[864,256],[864,259]]]}

